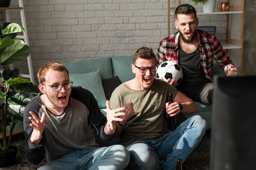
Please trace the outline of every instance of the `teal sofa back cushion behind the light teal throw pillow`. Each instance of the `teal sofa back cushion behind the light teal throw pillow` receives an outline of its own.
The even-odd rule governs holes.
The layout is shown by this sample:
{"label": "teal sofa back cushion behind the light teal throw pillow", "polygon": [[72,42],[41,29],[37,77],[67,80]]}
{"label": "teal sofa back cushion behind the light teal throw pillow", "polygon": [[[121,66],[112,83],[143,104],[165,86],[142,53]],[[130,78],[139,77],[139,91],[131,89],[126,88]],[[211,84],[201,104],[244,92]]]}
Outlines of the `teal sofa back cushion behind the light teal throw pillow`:
{"label": "teal sofa back cushion behind the light teal throw pillow", "polygon": [[69,73],[90,73],[100,70],[101,78],[112,78],[112,67],[110,57],[95,58],[89,60],[78,60],[72,63],[62,63]]}

